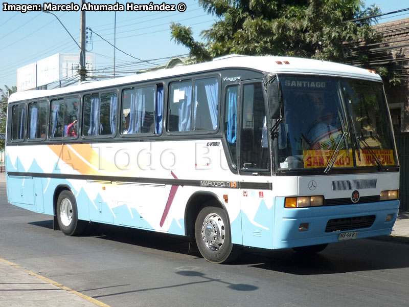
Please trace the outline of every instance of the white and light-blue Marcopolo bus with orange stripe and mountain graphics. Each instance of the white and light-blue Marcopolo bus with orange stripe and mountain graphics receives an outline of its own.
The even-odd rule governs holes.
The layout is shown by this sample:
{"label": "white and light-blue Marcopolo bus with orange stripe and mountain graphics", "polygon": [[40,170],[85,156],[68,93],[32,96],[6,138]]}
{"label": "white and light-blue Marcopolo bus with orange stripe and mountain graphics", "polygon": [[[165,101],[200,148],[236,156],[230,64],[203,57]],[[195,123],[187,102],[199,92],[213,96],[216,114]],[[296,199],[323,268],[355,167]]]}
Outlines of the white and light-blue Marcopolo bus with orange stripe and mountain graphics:
{"label": "white and light-blue Marcopolo bus with orange stripe and mountain graphics", "polygon": [[8,201],[78,235],[89,222],[319,252],[390,234],[399,163],[381,78],[348,65],[225,56],[13,94]]}

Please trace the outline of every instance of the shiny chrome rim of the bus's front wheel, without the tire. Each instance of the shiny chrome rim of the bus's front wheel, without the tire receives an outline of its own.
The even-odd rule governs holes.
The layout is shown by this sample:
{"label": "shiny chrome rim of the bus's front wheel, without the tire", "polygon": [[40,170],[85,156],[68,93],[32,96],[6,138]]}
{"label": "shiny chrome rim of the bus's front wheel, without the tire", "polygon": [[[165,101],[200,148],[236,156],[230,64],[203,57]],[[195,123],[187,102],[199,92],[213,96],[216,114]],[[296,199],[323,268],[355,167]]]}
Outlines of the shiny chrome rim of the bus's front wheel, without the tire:
{"label": "shiny chrome rim of the bus's front wheel, without the tire", "polygon": [[217,251],[223,246],[225,227],[218,214],[211,213],[206,216],[201,228],[201,237],[206,247],[212,251]]}

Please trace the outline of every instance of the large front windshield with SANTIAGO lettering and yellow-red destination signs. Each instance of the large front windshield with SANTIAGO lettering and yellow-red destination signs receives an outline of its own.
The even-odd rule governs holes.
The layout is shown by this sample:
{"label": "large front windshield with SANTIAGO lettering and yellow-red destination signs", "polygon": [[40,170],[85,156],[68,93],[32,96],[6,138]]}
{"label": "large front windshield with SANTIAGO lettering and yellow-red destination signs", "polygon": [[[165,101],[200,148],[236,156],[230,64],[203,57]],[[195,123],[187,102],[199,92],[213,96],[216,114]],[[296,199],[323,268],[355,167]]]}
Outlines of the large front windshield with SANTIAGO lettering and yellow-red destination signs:
{"label": "large front windshield with SANTIAGO lettering and yellow-red destination signs", "polygon": [[280,170],[395,165],[387,103],[379,82],[281,76]]}

